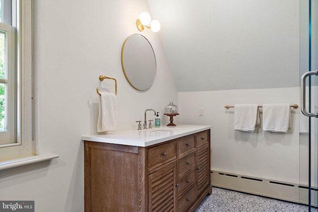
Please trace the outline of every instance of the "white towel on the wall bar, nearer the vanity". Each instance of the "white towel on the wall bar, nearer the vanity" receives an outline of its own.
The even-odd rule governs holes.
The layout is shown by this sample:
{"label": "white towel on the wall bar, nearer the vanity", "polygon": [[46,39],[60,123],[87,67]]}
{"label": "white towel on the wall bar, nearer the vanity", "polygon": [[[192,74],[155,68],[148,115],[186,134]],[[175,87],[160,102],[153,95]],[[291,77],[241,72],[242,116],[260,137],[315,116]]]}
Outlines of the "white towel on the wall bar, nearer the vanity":
{"label": "white towel on the wall bar, nearer the vanity", "polygon": [[234,105],[234,130],[253,133],[255,125],[259,125],[257,104]]}

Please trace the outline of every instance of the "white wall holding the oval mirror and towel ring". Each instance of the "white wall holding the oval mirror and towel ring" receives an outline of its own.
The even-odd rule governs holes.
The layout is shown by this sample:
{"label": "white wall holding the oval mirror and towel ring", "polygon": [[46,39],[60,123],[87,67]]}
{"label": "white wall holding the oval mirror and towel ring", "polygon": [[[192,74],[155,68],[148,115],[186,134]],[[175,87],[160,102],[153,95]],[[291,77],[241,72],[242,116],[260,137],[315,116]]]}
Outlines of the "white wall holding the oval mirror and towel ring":
{"label": "white wall holding the oval mirror and towel ring", "polygon": [[[82,135],[96,131],[96,87],[118,82],[118,130],[137,129],[144,111],[177,104],[177,90],[158,34],[139,32],[136,20],[150,12],[146,0],[36,0],[36,145],[60,155],[46,168],[0,178],[0,200],[34,200],[36,212],[83,212]],[[157,59],[157,77],[145,92],[134,90],[121,67],[125,39],[140,33]],[[151,113],[148,114],[150,116]],[[162,120],[167,124],[168,120]]]}

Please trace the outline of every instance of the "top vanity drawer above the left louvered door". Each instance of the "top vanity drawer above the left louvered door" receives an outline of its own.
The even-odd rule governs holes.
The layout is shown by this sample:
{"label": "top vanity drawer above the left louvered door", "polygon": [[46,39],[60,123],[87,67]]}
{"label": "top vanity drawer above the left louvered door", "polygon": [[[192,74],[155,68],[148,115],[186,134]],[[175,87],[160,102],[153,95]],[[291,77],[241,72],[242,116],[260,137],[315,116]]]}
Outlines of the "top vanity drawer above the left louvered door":
{"label": "top vanity drawer above the left louvered door", "polygon": [[148,170],[176,159],[176,141],[148,149]]}

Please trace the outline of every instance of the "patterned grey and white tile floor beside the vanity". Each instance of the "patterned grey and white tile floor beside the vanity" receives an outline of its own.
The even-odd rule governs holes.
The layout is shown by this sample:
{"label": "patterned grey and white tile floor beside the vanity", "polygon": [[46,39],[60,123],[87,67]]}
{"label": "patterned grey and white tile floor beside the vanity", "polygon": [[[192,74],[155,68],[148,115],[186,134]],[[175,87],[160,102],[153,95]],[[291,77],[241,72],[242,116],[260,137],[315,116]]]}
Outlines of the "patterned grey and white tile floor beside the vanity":
{"label": "patterned grey and white tile floor beside the vanity", "polygon": [[308,206],[213,187],[195,212],[308,212]]}

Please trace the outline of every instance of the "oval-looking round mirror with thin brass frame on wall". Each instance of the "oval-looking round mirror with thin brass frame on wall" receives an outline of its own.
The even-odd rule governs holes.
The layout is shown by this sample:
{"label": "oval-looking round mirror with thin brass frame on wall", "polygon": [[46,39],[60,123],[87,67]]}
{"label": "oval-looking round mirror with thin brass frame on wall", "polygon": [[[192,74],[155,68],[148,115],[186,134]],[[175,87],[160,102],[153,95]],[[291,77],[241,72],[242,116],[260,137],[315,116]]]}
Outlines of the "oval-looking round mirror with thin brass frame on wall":
{"label": "oval-looking round mirror with thin brass frame on wall", "polygon": [[156,77],[156,58],[149,41],[140,34],[129,36],[121,50],[121,65],[129,84],[137,90],[147,90]]}

